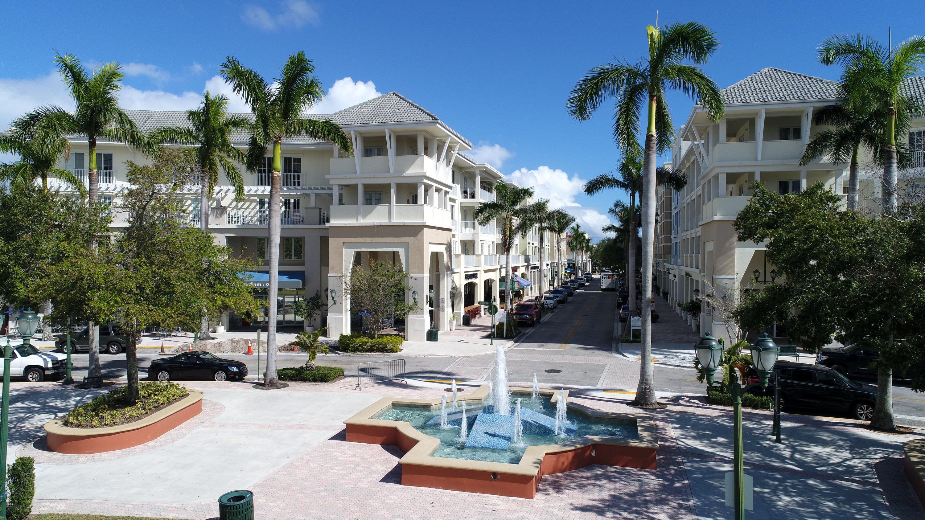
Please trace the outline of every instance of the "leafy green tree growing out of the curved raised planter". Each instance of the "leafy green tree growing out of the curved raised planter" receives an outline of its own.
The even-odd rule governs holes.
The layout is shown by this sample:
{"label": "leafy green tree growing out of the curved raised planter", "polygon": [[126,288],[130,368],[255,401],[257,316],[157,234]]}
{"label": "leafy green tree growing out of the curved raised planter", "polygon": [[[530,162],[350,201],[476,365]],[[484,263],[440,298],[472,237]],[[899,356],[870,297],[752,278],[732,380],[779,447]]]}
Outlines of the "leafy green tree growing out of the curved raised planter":
{"label": "leafy green tree growing out of the curved raised planter", "polygon": [[[139,398],[137,338],[149,325],[194,328],[203,307],[213,313],[256,308],[251,286],[241,275],[252,269],[247,260],[230,257],[212,236],[185,225],[182,179],[176,171],[191,154],[165,151],[152,166],[128,163],[131,188],[119,201],[129,226],[101,241],[93,251],[82,249],[48,270],[44,295],[56,302],[53,319],[89,316],[98,323],[118,323],[128,338],[126,363],[128,404]],[[85,276],[74,277],[80,272]]]}

